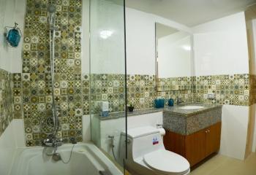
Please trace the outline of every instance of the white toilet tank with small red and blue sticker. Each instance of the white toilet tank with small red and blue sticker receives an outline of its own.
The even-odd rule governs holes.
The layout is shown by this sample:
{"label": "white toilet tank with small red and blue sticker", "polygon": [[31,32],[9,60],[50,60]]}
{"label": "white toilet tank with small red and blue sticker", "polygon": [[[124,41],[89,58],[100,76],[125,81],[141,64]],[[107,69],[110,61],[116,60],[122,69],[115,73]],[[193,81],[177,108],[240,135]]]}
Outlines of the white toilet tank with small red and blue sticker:
{"label": "white toilet tank with small red and blue sticker", "polygon": [[133,160],[148,152],[165,149],[159,130],[152,126],[128,129],[127,138],[127,155],[128,158],[132,155]]}

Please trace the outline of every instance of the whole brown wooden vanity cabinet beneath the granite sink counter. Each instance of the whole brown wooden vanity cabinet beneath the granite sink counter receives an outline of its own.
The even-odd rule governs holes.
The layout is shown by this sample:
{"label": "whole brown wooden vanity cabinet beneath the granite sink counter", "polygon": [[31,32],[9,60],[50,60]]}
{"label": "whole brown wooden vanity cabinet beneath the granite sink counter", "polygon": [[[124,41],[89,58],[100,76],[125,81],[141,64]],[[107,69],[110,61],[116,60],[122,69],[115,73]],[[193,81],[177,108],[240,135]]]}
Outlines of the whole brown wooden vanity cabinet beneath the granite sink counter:
{"label": "whole brown wooden vanity cabinet beneath the granite sink counter", "polygon": [[195,133],[183,136],[166,131],[165,149],[184,156],[194,166],[204,158],[219,150],[221,123],[216,123]]}

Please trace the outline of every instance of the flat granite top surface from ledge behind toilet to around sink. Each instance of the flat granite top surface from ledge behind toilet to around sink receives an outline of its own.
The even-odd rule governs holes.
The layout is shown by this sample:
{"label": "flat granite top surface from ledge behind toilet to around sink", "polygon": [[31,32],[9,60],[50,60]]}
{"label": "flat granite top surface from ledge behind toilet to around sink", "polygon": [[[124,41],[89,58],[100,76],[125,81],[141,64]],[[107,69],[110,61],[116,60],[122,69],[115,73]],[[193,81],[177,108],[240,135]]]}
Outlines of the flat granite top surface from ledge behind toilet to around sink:
{"label": "flat granite top surface from ledge behind toilet to around sink", "polygon": [[[204,106],[204,108],[201,109],[180,109],[181,106]],[[140,114],[149,114],[154,112],[172,112],[175,114],[179,114],[184,117],[189,117],[193,114],[198,114],[200,112],[205,112],[210,109],[222,107],[222,105],[219,104],[198,104],[198,103],[189,103],[189,104],[181,104],[181,105],[175,105],[175,106],[166,106],[165,108],[149,108],[149,109],[139,109],[135,110],[133,112],[127,112],[127,116],[135,116]],[[99,115],[98,115],[99,116]],[[100,120],[109,120],[109,119],[116,119],[119,117],[124,117],[124,112],[112,112],[109,114],[108,117],[101,117],[99,116]]]}

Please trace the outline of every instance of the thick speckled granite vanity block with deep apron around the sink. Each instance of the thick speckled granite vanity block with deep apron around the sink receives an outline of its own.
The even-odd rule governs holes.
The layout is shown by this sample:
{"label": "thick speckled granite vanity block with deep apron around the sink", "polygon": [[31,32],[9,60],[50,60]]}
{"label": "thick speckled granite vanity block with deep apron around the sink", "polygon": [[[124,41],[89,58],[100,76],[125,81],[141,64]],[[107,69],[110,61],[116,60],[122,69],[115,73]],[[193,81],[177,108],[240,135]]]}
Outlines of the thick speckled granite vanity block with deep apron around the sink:
{"label": "thick speckled granite vanity block with deep apron around the sink", "polygon": [[165,109],[163,128],[183,136],[195,133],[222,121],[222,105],[183,104],[183,106],[204,106],[201,109],[181,109],[181,106]]}

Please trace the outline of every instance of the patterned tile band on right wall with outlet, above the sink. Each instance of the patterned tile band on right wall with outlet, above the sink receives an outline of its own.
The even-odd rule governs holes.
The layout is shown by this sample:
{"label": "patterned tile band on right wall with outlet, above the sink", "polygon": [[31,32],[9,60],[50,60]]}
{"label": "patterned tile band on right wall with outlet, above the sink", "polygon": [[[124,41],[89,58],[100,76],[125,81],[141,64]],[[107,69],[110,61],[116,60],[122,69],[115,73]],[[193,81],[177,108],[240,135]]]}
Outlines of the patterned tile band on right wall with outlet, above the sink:
{"label": "patterned tile band on right wall with outlet, above the sink", "polygon": [[[215,93],[214,100],[207,93]],[[213,104],[249,105],[249,74],[230,74],[196,77],[195,101]]]}

